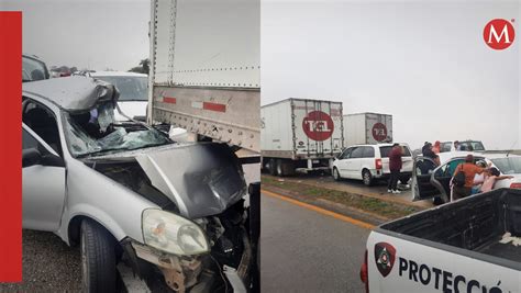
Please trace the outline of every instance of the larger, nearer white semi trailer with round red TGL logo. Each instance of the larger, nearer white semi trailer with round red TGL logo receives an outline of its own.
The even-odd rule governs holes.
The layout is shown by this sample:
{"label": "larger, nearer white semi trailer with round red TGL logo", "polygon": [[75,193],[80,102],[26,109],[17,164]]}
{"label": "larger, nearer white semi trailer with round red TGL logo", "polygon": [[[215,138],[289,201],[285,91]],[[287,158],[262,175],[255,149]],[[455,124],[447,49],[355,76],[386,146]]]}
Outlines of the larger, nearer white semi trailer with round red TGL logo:
{"label": "larger, nearer white semi trailer with round red TGL logo", "polygon": [[287,99],[260,109],[263,168],[271,174],[331,170],[344,146],[342,103]]}

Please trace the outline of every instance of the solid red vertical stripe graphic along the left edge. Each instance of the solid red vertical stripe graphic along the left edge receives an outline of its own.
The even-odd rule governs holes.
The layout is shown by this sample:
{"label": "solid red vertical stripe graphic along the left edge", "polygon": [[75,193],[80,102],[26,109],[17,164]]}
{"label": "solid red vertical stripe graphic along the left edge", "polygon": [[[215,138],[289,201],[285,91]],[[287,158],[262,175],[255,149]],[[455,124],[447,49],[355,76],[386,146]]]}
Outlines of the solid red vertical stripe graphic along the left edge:
{"label": "solid red vertical stripe graphic along the left edge", "polygon": [[0,282],[22,281],[22,13],[0,12],[3,156],[0,176]]}

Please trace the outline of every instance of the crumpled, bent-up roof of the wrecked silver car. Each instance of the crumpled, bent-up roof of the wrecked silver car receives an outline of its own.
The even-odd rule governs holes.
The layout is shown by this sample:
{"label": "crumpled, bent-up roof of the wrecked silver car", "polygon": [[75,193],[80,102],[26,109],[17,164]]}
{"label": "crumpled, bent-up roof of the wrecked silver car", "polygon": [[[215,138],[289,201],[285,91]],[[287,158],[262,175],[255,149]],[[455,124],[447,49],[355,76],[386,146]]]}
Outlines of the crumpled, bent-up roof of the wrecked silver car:
{"label": "crumpled, bent-up roof of the wrecked silver car", "polygon": [[119,98],[114,86],[82,76],[25,82],[22,93],[46,99],[69,112],[90,110],[98,102],[117,102]]}

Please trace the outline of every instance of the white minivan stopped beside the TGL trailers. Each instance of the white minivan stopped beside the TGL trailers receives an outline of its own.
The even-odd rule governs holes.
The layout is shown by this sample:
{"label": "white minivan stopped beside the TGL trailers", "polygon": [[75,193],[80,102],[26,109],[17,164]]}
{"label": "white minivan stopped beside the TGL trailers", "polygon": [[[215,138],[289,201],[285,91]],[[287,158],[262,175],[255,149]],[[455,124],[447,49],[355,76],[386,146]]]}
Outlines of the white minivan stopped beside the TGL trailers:
{"label": "white minivan stopped beside the TGL trailers", "polygon": [[[412,156],[407,144],[400,145],[404,151],[400,181],[407,183],[412,173]],[[343,178],[359,179],[366,185],[372,185],[376,180],[389,178],[389,153],[391,148],[392,144],[347,147],[333,161],[333,178],[335,180]]]}

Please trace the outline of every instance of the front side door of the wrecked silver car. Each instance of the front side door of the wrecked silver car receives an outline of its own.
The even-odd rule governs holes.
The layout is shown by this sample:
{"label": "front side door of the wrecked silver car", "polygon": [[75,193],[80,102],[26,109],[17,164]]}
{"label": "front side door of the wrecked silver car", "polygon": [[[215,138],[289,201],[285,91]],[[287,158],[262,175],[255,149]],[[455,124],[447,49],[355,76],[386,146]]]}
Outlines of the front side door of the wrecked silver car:
{"label": "front side door of the wrecked silver car", "polygon": [[27,125],[22,123],[22,226],[57,230],[65,200],[65,165]]}

